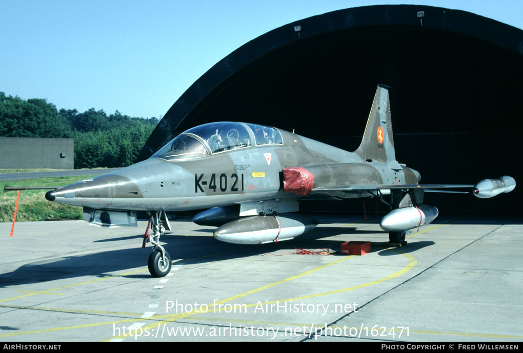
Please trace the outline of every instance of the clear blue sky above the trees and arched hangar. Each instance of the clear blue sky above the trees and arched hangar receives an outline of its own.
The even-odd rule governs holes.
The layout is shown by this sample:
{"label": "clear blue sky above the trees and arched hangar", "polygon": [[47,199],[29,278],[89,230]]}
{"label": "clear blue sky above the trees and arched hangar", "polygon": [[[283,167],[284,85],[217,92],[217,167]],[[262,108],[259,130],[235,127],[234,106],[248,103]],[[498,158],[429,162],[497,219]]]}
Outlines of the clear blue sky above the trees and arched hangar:
{"label": "clear blue sky above the trees and arched hangar", "polygon": [[58,109],[160,117],[249,40],[302,18],[380,4],[460,9],[523,29],[519,0],[0,0],[0,91]]}

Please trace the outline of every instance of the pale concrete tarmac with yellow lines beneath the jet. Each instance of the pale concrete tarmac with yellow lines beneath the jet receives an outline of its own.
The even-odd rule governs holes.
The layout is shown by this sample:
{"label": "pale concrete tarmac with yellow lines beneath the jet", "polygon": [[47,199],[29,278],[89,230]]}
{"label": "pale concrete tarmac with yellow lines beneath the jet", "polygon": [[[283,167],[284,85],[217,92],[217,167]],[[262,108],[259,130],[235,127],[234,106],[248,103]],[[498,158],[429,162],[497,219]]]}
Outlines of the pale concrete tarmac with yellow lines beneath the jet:
{"label": "pale concrete tarmac with yellow lines beneath the jet", "polygon": [[[523,340],[519,216],[440,214],[401,248],[378,220],[319,220],[257,246],[172,221],[164,278],[147,270],[146,222],[22,222],[13,237],[0,223],[0,341]],[[372,251],[342,255],[347,241]]]}

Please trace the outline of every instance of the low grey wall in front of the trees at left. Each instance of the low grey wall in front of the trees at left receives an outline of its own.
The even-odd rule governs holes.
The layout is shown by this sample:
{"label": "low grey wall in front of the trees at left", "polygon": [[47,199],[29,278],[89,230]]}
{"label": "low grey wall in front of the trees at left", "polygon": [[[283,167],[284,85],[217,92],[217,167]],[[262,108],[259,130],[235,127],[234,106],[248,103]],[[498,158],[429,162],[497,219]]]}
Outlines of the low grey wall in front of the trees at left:
{"label": "low grey wall in front of the trees at left", "polygon": [[0,168],[74,169],[74,140],[0,138]]}

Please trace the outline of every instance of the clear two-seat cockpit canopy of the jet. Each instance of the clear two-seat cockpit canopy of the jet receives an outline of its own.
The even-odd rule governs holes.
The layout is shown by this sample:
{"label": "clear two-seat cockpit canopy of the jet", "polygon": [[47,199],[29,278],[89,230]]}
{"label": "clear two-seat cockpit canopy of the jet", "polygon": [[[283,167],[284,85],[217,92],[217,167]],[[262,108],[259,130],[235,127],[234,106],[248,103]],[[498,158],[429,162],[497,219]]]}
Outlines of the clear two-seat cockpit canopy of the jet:
{"label": "clear two-seat cockpit canopy of the jet", "polygon": [[[254,142],[251,141],[253,137]],[[252,145],[282,143],[281,133],[275,128],[240,122],[213,122],[179,134],[152,157],[185,160]]]}

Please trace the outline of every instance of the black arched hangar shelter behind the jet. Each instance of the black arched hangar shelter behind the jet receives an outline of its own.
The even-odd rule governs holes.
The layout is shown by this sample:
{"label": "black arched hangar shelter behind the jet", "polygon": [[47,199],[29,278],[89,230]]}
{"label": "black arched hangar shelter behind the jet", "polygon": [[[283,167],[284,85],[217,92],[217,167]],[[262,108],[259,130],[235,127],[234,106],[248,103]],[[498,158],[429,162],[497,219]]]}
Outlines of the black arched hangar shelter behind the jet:
{"label": "black arched hangar shelter behind the jet", "polygon": [[[274,29],[215,64],[169,109],[140,159],[212,121],[263,123],[354,151],[385,84],[396,158],[422,183],[521,183],[522,68],[523,31],[492,19],[417,5],[338,10]],[[426,197],[442,211],[520,212],[518,189],[488,200]]]}

